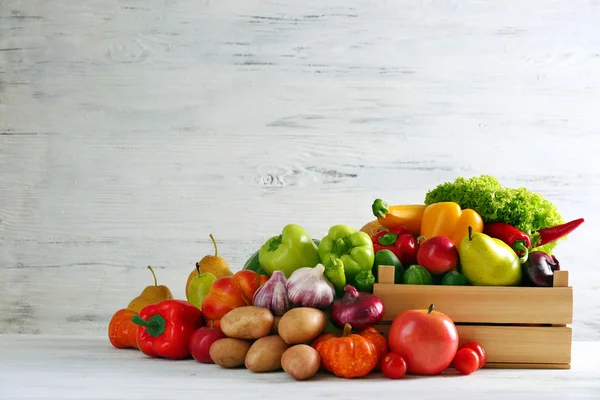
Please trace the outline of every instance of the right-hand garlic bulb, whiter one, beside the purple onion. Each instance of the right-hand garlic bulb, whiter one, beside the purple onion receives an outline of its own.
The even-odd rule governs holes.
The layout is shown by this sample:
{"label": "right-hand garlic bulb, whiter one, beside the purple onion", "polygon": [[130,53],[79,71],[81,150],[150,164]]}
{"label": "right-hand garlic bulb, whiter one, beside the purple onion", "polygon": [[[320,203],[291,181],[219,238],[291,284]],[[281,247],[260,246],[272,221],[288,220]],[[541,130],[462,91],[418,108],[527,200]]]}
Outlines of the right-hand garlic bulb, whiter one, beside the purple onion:
{"label": "right-hand garlic bulb, whiter one, beside the purple onion", "polygon": [[323,275],[324,271],[323,264],[295,270],[285,285],[290,302],[302,307],[329,307],[333,303],[335,288]]}

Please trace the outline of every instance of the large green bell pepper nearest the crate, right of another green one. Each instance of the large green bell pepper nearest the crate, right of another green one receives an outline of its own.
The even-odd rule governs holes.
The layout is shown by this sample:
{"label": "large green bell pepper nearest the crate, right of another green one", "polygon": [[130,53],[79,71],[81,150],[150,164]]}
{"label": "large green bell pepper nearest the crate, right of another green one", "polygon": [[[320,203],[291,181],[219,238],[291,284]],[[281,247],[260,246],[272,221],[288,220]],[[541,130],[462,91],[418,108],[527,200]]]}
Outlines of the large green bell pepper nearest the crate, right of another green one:
{"label": "large green bell pepper nearest the crate, right of another green one", "polygon": [[348,225],[334,225],[329,228],[327,236],[319,243],[318,251],[325,268],[331,268],[336,259],[342,261],[348,282],[352,282],[361,271],[371,271],[375,260],[371,237]]}

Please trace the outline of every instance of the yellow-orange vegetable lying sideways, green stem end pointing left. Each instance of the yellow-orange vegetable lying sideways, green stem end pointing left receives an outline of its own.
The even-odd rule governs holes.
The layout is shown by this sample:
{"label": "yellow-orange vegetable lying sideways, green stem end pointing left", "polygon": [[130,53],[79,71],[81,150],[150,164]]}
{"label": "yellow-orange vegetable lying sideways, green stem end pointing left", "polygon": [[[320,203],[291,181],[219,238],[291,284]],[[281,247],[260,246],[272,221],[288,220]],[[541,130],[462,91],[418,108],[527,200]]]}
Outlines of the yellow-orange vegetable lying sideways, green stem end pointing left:
{"label": "yellow-orange vegetable lying sideways, green stem end pointing left", "polygon": [[375,199],[371,206],[377,221],[387,229],[405,226],[408,233],[419,236],[425,204],[388,205],[381,199]]}

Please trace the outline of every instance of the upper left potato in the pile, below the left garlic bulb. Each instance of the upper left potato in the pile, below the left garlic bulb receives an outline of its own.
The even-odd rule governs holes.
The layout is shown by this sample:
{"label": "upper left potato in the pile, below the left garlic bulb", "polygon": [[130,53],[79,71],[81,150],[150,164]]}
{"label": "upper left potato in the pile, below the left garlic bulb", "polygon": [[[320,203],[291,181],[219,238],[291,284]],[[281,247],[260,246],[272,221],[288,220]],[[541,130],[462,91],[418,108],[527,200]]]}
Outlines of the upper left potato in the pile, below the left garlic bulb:
{"label": "upper left potato in the pile, below the left garlic bulb", "polygon": [[223,333],[236,339],[258,339],[273,328],[274,317],[268,308],[244,306],[234,308],[221,318]]}

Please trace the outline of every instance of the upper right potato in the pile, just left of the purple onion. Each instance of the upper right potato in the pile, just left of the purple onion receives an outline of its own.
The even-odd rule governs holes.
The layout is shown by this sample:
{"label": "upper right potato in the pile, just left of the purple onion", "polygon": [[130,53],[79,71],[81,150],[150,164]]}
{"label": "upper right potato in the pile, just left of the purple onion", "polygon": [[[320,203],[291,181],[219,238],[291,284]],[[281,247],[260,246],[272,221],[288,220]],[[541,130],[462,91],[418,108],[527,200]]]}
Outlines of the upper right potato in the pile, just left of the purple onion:
{"label": "upper right potato in the pile, just left of the purple onion", "polygon": [[289,344],[306,343],[319,336],[327,327],[327,315],[310,307],[292,308],[279,321],[279,336]]}

